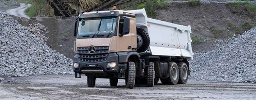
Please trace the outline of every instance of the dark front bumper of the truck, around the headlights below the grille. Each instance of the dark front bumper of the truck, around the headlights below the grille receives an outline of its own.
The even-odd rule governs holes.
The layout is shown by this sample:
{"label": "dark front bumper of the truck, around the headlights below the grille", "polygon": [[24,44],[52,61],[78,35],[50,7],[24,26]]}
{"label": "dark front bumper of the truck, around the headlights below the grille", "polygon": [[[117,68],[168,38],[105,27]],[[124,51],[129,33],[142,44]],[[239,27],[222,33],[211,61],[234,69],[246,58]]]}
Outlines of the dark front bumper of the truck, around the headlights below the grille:
{"label": "dark front bumper of the truck, around the headlights below the grille", "polygon": [[[85,75],[93,75],[93,76],[102,76],[106,77],[109,74],[117,74],[119,73],[119,69],[125,69],[126,64],[119,64],[119,55],[117,53],[109,53],[106,61],[100,62],[85,62],[81,61],[79,58],[79,54],[74,56],[74,62],[78,63],[78,68],[74,68],[74,72],[76,74],[85,74]],[[116,67],[111,68],[107,66],[109,62],[116,62]]]}

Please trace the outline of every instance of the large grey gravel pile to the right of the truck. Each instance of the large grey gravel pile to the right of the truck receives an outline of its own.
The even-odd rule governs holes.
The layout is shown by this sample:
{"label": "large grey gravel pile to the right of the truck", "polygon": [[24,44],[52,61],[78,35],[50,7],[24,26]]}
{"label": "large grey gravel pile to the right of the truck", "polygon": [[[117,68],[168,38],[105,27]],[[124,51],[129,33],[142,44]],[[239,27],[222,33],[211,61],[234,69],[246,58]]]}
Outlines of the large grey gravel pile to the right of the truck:
{"label": "large grey gravel pile to the right of the truck", "polygon": [[[190,61],[191,75],[201,80],[256,82],[256,27],[231,40],[218,40],[217,50]],[[221,44],[221,45],[220,45]]]}

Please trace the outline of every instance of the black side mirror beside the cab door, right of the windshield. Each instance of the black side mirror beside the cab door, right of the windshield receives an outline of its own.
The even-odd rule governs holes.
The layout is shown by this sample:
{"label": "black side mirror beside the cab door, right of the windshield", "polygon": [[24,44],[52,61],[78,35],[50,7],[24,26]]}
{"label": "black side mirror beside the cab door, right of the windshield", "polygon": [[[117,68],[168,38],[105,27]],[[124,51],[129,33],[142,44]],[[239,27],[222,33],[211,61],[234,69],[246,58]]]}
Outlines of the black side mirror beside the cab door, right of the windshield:
{"label": "black side mirror beside the cab door, right of the windshield", "polygon": [[121,18],[119,21],[119,36],[129,34],[130,32],[130,19]]}

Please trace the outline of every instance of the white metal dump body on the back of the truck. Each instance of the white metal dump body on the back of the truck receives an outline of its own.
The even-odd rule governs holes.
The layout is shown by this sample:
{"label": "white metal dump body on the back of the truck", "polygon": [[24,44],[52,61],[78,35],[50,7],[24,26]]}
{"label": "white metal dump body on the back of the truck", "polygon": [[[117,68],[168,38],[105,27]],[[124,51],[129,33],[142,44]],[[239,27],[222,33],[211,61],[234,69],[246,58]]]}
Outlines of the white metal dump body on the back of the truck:
{"label": "white metal dump body on the back of the truck", "polygon": [[145,9],[125,11],[136,15],[137,27],[150,37],[153,55],[177,56],[193,59],[191,27],[148,18]]}

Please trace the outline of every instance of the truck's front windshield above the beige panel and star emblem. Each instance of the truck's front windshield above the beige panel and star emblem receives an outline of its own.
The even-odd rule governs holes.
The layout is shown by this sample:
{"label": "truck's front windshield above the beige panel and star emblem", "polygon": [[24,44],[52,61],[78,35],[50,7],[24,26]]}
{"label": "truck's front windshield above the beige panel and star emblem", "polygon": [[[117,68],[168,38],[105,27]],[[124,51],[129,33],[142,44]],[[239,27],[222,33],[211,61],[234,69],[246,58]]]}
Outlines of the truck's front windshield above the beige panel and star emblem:
{"label": "truck's front windshield above the beige panel and star emblem", "polygon": [[82,19],[79,22],[78,35],[113,34],[116,22],[117,18]]}

